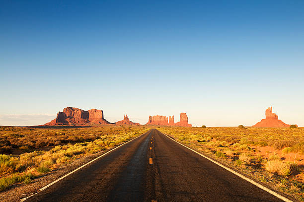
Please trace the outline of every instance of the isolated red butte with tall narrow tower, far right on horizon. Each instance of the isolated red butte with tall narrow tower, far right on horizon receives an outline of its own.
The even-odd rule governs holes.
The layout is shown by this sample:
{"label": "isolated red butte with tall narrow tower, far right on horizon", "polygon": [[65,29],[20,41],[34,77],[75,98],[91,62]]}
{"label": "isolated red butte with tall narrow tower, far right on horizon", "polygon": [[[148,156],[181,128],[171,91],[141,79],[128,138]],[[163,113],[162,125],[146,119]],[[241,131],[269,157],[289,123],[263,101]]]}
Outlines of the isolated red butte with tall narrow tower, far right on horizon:
{"label": "isolated red butte with tall narrow tower, far right on horizon", "polygon": [[265,112],[266,119],[262,119],[260,122],[252,127],[262,127],[262,128],[288,128],[290,125],[285,124],[283,121],[279,120],[278,115],[272,113],[272,107],[268,107]]}

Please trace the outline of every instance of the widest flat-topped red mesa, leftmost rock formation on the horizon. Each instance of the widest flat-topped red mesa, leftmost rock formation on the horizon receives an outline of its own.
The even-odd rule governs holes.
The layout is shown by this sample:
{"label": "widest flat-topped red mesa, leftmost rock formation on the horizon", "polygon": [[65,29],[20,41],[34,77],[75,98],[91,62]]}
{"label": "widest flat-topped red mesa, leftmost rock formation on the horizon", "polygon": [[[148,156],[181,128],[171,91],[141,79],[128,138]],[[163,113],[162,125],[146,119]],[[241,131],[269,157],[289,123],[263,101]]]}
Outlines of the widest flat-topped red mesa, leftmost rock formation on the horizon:
{"label": "widest flat-topped red mesa, leftmost rock formation on the horizon", "polygon": [[103,118],[103,111],[91,109],[84,111],[76,107],[66,107],[63,112],[57,114],[56,119],[45,126],[62,126],[62,125],[90,125],[90,124],[111,124]]}

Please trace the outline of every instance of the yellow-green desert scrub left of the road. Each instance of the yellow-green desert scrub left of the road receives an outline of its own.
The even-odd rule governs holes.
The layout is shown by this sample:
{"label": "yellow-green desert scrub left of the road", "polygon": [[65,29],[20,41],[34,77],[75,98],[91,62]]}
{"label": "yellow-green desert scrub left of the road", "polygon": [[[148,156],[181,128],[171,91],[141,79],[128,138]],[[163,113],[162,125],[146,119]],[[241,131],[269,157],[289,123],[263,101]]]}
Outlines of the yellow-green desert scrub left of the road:
{"label": "yellow-green desert scrub left of the road", "polygon": [[78,129],[0,127],[0,191],[28,184],[77,158],[109,149],[139,136],[142,126]]}

